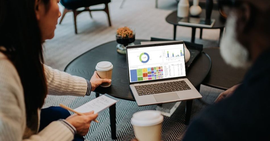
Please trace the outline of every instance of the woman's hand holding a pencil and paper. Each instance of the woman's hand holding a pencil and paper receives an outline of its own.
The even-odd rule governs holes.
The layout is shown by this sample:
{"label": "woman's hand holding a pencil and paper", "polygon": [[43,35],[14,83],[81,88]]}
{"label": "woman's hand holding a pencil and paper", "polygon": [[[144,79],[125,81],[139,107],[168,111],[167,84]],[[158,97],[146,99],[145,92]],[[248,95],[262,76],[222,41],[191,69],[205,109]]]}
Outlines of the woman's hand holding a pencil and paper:
{"label": "woman's hand holding a pencil and paper", "polygon": [[81,136],[87,134],[90,128],[91,121],[97,118],[97,114],[94,114],[94,111],[84,114],[85,115],[74,114],[66,119],[66,121],[68,121],[71,125],[73,125],[76,128],[77,134]]}

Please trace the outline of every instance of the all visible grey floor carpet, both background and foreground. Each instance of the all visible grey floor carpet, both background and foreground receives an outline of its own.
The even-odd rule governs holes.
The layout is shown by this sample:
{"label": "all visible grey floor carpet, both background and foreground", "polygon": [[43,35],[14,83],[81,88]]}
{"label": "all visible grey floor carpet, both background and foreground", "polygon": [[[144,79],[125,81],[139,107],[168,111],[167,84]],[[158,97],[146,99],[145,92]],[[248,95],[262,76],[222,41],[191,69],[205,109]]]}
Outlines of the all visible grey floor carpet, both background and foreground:
{"label": "all visible grey floor carpet, both background and foreground", "polygon": [[[115,40],[117,28],[129,26],[136,31],[137,39],[150,37],[173,38],[173,25],[165,21],[165,17],[176,10],[175,0],[159,0],[159,8],[155,9],[155,0],[126,0],[120,9],[122,0],[112,0],[109,3],[112,26],[108,26],[105,12],[88,12],[77,17],[78,34],[74,34],[73,14],[67,13],[62,24],[57,25],[55,37],[44,44],[45,64],[59,70],[64,70],[66,65],[75,57],[93,47]],[[98,5],[92,8],[103,7]],[[63,7],[60,7],[61,11]],[[191,28],[177,27],[177,40],[190,41]],[[203,39],[199,39],[199,30],[196,32],[196,43],[204,47],[217,46],[219,30],[203,30]],[[91,63],[91,61],[90,61]],[[200,100],[195,100],[192,105],[192,119],[203,109],[213,103],[222,90],[201,86]],[[94,94],[86,97],[74,96],[48,96],[44,107],[57,106],[59,103],[76,108],[91,99]],[[182,102],[171,117],[165,117],[163,122],[162,140],[182,140],[187,126],[184,125],[184,105]],[[155,109],[155,105],[138,107],[136,102],[120,100],[117,103],[117,137],[118,140],[131,140],[134,137],[130,118],[136,111]],[[86,140],[111,140],[108,109],[99,113],[100,123],[92,123]]]}

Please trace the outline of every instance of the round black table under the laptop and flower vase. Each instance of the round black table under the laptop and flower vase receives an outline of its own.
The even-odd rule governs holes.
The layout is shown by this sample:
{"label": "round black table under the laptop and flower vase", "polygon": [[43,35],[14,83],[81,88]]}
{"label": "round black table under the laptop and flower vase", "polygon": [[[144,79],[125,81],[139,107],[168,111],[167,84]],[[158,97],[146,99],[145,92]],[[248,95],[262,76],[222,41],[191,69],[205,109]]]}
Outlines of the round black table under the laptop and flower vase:
{"label": "round black table under the laptop and flower vase", "polygon": [[[149,40],[135,40],[135,45]],[[69,74],[83,77],[90,80],[95,71],[95,66],[100,61],[110,61],[113,64],[112,83],[110,87],[97,87],[94,92],[97,94],[109,94],[115,98],[135,101],[130,92],[128,82],[128,69],[126,55],[117,53],[116,41],[99,45],[71,61],[65,68]],[[206,53],[200,53],[192,62],[186,74],[190,82],[200,90],[200,84],[211,69],[211,59]],[[189,123],[191,115],[192,100],[186,102],[186,124]],[[111,121],[112,139],[116,139],[116,105],[109,108]]]}

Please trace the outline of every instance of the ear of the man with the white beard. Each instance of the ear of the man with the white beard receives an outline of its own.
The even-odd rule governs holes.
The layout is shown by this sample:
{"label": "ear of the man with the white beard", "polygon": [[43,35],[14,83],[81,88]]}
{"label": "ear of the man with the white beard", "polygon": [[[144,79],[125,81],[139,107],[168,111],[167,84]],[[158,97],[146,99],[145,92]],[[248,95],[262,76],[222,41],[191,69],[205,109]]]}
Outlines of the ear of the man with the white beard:
{"label": "ear of the man with the white beard", "polygon": [[236,11],[237,21],[236,21],[236,30],[238,33],[246,33],[249,30],[250,26],[250,17],[251,17],[251,7],[247,3],[240,5],[239,9]]}

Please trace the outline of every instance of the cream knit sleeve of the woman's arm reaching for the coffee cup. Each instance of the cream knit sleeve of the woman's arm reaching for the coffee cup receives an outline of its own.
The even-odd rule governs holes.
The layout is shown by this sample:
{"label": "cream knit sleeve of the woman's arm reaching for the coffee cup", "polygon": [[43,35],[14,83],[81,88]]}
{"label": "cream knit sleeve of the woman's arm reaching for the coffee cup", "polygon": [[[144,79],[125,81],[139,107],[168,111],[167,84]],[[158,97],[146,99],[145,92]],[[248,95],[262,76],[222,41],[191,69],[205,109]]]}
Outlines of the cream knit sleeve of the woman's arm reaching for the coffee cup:
{"label": "cream knit sleeve of the woman's arm reaching for the coffee cup", "polygon": [[[91,84],[82,77],[44,66],[49,95],[86,96],[91,92]],[[89,82],[89,83],[88,83]]]}

